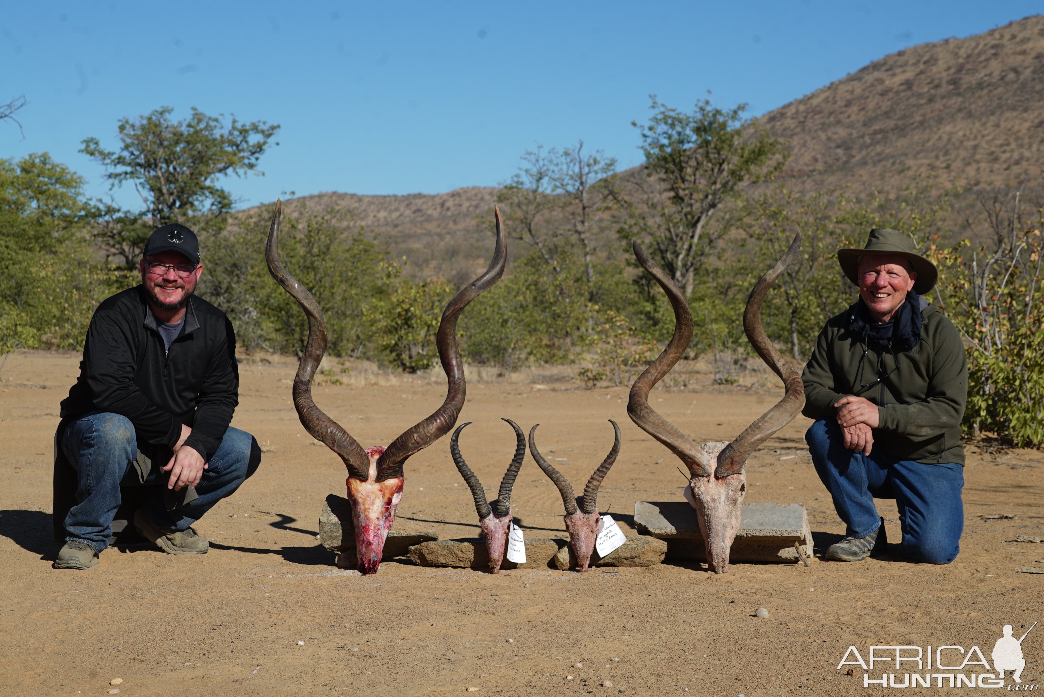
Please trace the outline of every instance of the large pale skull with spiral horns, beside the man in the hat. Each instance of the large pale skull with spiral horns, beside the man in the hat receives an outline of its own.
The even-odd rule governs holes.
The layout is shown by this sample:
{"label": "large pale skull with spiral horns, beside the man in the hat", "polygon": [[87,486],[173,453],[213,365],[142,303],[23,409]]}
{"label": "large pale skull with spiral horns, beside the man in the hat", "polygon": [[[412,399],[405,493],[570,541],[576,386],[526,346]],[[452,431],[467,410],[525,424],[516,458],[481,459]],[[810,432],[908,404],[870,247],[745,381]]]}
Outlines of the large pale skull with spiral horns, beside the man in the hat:
{"label": "large pale skull with spiral horns, beside the man in the hat", "polygon": [[[743,311],[746,338],[761,360],[783,380],[786,388],[783,399],[746,427],[732,442],[709,442],[701,447],[654,411],[648,404],[649,390],[674,367],[689,347],[692,340],[692,313],[678,286],[652,262],[637,241],[634,243],[638,263],[660,284],[674,309],[674,336],[663,353],[631,386],[627,414],[639,428],[666,446],[689,468],[689,488],[695,501],[699,530],[707,546],[707,566],[716,574],[729,571],[729,550],[739,530],[740,509],[746,491],[746,475],[743,473],[746,458],[769,436],[789,424],[805,406],[805,388],[801,376],[783,361],[761,327],[761,305],[768,288],[798,256],[800,248],[799,233],[786,254],[758,280]],[[715,462],[713,470],[712,461]]]}

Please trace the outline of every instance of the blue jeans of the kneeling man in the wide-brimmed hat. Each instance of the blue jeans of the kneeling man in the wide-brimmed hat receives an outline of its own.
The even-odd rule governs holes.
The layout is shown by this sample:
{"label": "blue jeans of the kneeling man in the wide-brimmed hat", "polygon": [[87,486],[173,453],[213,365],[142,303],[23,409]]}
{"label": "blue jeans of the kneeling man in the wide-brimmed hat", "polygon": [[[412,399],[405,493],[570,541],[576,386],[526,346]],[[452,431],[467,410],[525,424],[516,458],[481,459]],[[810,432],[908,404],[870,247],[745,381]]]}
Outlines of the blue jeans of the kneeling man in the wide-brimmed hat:
{"label": "blue jeans of the kneeling man in the wide-brimmed hat", "polygon": [[817,420],[805,433],[812,463],[834,500],[851,537],[865,537],[880,526],[874,499],[895,499],[903,531],[903,551],[926,563],[950,563],[960,551],[965,527],[960,489],[964,467],[954,462],[924,464],[845,447],[841,427]]}

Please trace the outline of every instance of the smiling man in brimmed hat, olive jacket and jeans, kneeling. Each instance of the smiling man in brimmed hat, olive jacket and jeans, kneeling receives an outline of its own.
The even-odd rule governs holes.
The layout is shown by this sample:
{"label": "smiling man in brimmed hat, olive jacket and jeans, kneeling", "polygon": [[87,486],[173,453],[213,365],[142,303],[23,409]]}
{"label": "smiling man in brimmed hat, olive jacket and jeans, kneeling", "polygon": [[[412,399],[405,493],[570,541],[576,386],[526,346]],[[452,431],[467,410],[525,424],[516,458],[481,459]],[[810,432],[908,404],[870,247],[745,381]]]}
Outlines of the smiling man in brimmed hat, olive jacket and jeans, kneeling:
{"label": "smiling man in brimmed hat, olive jacket and jeans, kneeling", "polygon": [[956,328],[924,297],[939,273],[887,227],[861,249],[838,249],[837,261],[859,299],[823,328],[802,376],[802,413],[815,419],[805,439],[847,526],[826,558],[884,550],[878,498],[896,500],[905,554],[949,563],[964,529],[968,363]]}

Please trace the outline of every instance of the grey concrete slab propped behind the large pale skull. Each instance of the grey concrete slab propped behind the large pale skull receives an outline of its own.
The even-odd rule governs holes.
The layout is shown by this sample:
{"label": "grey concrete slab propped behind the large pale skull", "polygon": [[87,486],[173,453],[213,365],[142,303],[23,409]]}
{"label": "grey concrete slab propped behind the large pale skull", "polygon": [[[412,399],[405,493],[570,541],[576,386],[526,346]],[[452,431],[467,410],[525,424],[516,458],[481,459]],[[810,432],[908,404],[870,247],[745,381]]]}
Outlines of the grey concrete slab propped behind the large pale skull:
{"label": "grey concrete slab propped behind the large pale skull", "polygon": [[[642,534],[667,542],[668,561],[707,560],[696,510],[686,501],[636,501],[635,526]],[[810,560],[815,558],[804,506],[744,503],[729,560],[800,562],[794,543]]]}

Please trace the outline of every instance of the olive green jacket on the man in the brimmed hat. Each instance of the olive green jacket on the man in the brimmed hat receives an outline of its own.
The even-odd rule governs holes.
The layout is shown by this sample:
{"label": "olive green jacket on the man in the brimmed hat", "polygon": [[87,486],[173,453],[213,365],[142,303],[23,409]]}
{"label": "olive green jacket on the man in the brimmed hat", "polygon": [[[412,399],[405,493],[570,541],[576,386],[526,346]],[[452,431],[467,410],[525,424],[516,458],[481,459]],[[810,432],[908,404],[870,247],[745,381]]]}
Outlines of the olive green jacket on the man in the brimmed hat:
{"label": "olive green jacket on the man in the brimmed hat", "polygon": [[968,361],[957,329],[927,305],[921,343],[894,358],[888,351],[868,350],[849,331],[855,307],[832,317],[820,332],[802,375],[802,413],[833,419],[837,400],[862,396],[878,406],[875,449],[904,460],[964,464],[960,419],[968,400]]}

